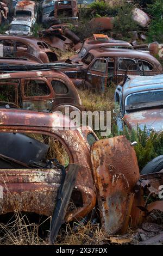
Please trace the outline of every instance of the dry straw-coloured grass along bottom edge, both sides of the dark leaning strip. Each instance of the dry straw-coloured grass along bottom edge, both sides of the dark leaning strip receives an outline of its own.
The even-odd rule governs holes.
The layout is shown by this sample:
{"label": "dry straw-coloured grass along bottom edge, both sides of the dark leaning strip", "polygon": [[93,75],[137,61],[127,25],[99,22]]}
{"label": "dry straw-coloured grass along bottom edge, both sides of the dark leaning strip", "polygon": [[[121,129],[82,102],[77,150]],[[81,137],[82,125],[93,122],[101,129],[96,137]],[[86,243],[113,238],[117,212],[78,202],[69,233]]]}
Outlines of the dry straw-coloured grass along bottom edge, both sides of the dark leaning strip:
{"label": "dry straw-coloured grass along bottom edge, both sides of the dark leaning strip", "polygon": [[[39,228],[42,224],[30,223],[26,215],[15,211],[14,218],[7,224],[0,223],[0,245],[49,245],[48,237],[40,237]],[[80,224],[75,230],[74,225],[71,227],[67,224],[59,231],[55,245],[103,245],[108,240],[108,235],[98,224]]]}

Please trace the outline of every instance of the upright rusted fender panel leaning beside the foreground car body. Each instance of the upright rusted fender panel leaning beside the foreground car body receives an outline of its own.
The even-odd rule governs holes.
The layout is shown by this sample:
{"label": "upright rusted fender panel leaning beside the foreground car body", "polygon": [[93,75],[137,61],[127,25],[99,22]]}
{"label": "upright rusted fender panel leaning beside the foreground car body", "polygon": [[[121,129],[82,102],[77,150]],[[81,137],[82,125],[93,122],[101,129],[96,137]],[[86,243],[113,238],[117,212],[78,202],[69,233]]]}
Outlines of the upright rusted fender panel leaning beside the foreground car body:
{"label": "upright rusted fender panel leaning beside the foreground car body", "polygon": [[109,234],[123,233],[131,213],[141,215],[142,196],[133,204],[140,176],[135,151],[124,136],[104,139],[92,145],[91,161],[102,225]]}

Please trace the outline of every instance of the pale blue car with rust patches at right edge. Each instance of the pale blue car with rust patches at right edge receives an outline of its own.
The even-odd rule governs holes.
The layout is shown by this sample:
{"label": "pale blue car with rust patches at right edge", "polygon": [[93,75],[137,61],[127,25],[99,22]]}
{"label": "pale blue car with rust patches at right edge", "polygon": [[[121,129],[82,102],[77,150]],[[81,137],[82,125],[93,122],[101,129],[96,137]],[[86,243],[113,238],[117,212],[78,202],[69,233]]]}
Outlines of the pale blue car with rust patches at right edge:
{"label": "pale blue car with rust patches at right edge", "polygon": [[123,86],[118,85],[115,91],[117,105],[117,125],[123,130],[137,128],[147,131],[163,130],[163,75],[128,77]]}

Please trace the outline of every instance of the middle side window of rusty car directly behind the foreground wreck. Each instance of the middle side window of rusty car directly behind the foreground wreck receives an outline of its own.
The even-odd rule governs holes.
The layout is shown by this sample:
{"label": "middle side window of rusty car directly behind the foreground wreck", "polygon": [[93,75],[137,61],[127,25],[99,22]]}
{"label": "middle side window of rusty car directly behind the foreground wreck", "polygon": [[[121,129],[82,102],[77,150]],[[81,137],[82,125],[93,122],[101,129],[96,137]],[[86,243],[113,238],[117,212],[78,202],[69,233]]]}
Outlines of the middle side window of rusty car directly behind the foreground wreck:
{"label": "middle side window of rusty car directly behind the foreground wreck", "polygon": [[25,80],[24,81],[24,96],[46,96],[51,93],[45,81],[42,80]]}

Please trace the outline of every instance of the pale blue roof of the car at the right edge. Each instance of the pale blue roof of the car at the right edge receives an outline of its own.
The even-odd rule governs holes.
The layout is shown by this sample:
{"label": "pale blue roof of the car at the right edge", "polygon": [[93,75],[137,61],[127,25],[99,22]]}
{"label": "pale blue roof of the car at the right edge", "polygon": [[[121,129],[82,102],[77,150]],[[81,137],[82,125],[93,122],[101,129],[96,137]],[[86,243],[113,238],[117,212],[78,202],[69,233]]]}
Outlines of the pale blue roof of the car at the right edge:
{"label": "pale blue roof of the car at the right edge", "polygon": [[163,89],[163,75],[129,77],[123,85],[123,98],[132,93]]}

